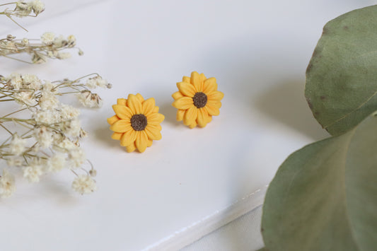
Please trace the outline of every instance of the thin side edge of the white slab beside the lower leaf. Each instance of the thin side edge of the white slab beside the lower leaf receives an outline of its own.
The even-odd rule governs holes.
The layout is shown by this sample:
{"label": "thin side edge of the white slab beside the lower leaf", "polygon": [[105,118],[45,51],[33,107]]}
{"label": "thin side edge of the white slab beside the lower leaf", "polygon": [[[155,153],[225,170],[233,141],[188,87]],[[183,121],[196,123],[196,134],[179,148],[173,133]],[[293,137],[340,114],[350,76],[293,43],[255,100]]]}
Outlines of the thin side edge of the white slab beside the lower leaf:
{"label": "thin side edge of the white slab beside the lower leaf", "polygon": [[145,247],[143,251],[152,250],[179,250],[182,247],[194,243],[204,235],[207,235],[221,226],[235,220],[236,218],[253,211],[257,206],[263,204],[268,185],[255,190],[248,196],[233,202],[224,209],[216,210],[214,213],[205,216],[199,221],[195,221],[190,226],[181,228],[166,238]]}

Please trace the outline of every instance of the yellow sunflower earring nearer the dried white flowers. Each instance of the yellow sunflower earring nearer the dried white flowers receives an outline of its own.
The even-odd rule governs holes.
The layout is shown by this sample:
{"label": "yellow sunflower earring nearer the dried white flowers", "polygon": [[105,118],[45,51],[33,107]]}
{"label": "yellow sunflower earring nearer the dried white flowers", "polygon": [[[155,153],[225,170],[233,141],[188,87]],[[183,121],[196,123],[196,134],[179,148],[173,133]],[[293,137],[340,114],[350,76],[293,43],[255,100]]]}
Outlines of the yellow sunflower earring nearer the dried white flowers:
{"label": "yellow sunflower earring nearer the dried white flowers", "polygon": [[158,113],[154,98],[144,100],[139,93],[129,94],[127,99],[118,98],[112,109],[115,115],[108,118],[114,132],[111,137],[120,140],[127,152],[137,149],[142,153],[153,140],[161,139],[160,123],[165,117]]}

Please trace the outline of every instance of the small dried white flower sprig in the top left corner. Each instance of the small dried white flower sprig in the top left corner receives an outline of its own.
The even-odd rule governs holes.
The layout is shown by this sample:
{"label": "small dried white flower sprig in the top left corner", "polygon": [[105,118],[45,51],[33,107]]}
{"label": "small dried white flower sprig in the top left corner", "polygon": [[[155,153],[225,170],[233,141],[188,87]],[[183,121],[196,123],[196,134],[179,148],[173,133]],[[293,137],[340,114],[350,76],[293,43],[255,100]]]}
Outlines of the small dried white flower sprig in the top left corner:
{"label": "small dried white flower sprig in the top left corner", "polygon": [[[6,4],[0,4],[0,7],[8,7],[8,6],[13,6],[13,9],[5,8],[4,11],[0,11],[0,15],[4,15],[11,19],[16,25],[20,26],[23,28],[19,23],[17,23],[12,16],[16,16],[18,18],[23,18],[25,16],[32,16],[36,17],[42,11],[45,11],[45,4],[42,3],[40,0],[33,0],[33,1],[15,1],[11,3],[6,3]],[[33,15],[33,14],[34,15]],[[23,28],[23,30],[26,30]],[[28,31],[28,30],[26,30]]]}

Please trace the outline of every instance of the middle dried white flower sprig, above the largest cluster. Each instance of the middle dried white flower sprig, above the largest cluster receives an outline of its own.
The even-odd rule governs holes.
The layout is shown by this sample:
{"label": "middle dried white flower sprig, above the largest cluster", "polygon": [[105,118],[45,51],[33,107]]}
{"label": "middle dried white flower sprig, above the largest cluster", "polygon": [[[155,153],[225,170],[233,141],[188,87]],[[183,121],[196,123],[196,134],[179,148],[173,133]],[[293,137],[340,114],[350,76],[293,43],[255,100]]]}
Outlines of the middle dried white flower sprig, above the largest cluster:
{"label": "middle dried white flower sprig, above the largest cluster", "polygon": [[[47,58],[67,59],[71,57],[71,54],[65,51],[66,49],[79,49],[75,47],[76,37],[74,35],[65,38],[62,35],[55,36],[54,33],[44,33],[40,40],[32,41],[30,42],[28,38],[16,40],[13,35],[7,35],[6,38],[0,39],[0,56],[16,59],[10,55],[27,53],[31,55],[31,62],[26,63],[42,64],[46,62]],[[83,52],[79,49],[79,55],[82,54]],[[21,59],[16,60],[25,62]]]}

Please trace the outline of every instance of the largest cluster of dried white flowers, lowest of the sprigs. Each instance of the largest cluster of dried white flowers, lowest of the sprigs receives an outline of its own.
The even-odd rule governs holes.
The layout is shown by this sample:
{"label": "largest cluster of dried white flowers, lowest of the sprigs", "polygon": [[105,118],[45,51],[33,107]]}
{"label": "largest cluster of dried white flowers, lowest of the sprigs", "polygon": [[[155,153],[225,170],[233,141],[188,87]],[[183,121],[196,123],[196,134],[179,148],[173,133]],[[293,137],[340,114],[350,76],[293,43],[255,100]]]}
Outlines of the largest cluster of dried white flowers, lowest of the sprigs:
{"label": "largest cluster of dried white flowers, lowest of the sprigs", "polygon": [[[96,171],[79,144],[87,134],[81,128],[80,111],[61,103],[58,97],[76,94],[86,107],[100,107],[102,100],[90,90],[97,87],[111,88],[111,84],[98,74],[54,82],[42,82],[31,74],[0,76],[0,102],[18,103],[15,111],[0,115],[0,128],[9,134],[0,144],[0,159],[9,168],[21,170],[29,182],[39,182],[48,173],[69,169],[76,175],[72,182],[76,192],[95,191]],[[85,163],[91,170],[83,168]],[[4,169],[0,197],[9,197],[14,191],[15,177]]]}

